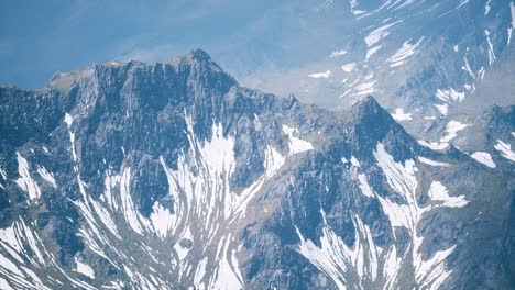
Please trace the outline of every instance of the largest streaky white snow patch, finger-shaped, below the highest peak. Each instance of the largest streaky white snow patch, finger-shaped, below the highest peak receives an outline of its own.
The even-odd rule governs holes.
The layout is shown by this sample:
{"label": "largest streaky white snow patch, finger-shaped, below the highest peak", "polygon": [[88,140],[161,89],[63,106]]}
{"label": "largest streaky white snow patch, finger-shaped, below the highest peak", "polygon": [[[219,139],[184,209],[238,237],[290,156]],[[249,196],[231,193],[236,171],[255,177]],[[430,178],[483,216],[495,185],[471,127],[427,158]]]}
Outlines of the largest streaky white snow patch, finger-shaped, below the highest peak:
{"label": "largest streaky white snow patch, finger-shaped, below the highest peak", "polygon": [[[168,197],[166,199],[173,201],[173,211],[165,209],[162,201],[154,203],[150,225],[161,238],[173,236],[176,242],[185,237],[191,241],[195,238],[194,247],[207,250],[210,246],[218,244],[221,252],[223,247],[229,245],[226,242],[230,243],[224,239],[227,237],[226,228],[230,231],[233,228],[233,222],[244,217],[246,208],[255,194],[265,180],[272,178],[281,169],[286,157],[282,156],[272,145],[265,146],[263,175],[248,188],[234,192],[230,186],[230,179],[235,168],[234,138],[229,134],[223,135],[222,124],[213,123],[210,140],[198,140],[194,131],[193,118],[185,114],[190,149],[179,154],[176,169],[171,169],[166,165],[165,157],[160,156],[168,182]],[[303,147],[298,144],[308,144],[293,136],[297,132],[296,129],[285,125],[283,130],[288,135],[292,154],[299,152],[298,148]],[[185,231],[184,228],[188,225],[194,227]],[[187,275],[187,271],[196,270],[196,266],[189,259],[189,248],[180,246],[179,243],[174,245],[175,261],[178,263],[178,270],[184,275]],[[209,266],[209,269],[212,269],[212,271],[209,270],[210,277],[202,279],[205,274],[198,274],[201,276],[197,277],[198,283],[204,281],[202,285],[207,288],[213,285],[221,286],[221,281],[227,278],[226,275],[230,276],[229,268],[235,277],[239,277],[234,253],[231,250],[226,253],[230,266],[227,267],[224,264],[220,264],[218,267]],[[220,279],[220,283],[215,282],[218,279]],[[237,278],[237,280],[239,279]]]}

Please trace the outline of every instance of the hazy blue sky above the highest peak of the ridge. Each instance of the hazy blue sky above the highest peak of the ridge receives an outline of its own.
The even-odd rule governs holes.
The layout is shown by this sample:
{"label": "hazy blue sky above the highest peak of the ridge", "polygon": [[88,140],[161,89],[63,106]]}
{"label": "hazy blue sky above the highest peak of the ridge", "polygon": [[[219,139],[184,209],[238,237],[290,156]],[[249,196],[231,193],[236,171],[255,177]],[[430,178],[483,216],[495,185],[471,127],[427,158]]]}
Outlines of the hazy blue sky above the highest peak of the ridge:
{"label": "hazy blue sky above the highest peak of the ridge", "polygon": [[35,89],[57,70],[111,59],[167,60],[193,48],[221,57],[275,2],[1,1],[0,83]]}

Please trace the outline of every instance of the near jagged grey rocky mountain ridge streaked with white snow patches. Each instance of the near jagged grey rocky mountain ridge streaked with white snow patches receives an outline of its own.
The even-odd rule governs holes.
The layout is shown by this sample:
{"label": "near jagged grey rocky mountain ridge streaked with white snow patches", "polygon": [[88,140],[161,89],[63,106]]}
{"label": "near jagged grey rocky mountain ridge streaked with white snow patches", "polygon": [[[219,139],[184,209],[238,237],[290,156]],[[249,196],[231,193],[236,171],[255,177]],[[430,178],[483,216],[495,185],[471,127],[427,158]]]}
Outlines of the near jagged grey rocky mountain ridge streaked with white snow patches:
{"label": "near jagged grey rocky mountain ridge streaked with white snow patches", "polygon": [[0,288],[514,287],[513,110],[493,111],[492,168],[371,97],[304,105],[201,51],[2,87]]}

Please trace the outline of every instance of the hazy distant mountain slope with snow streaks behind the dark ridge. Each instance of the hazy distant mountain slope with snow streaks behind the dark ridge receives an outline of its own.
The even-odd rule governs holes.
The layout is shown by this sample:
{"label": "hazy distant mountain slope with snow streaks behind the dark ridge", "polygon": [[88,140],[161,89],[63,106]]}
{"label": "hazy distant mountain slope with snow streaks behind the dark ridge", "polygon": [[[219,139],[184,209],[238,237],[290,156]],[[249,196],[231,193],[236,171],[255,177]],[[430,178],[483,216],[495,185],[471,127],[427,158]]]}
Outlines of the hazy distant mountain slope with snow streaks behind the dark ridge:
{"label": "hazy distant mountain slope with snow streaks behind the dark ridge", "polygon": [[[245,86],[329,109],[372,93],[417,136],[434,120],[514,103],[514,1],[335,0],[273,11],[238,38],[240,52],[256,43],[251,59],[264,58],[251,66],[262,70],[242,74]],[[270,26],[284,29],[270,35]]]}

